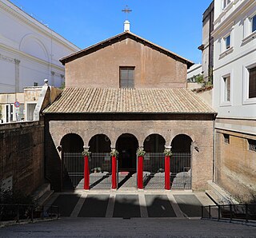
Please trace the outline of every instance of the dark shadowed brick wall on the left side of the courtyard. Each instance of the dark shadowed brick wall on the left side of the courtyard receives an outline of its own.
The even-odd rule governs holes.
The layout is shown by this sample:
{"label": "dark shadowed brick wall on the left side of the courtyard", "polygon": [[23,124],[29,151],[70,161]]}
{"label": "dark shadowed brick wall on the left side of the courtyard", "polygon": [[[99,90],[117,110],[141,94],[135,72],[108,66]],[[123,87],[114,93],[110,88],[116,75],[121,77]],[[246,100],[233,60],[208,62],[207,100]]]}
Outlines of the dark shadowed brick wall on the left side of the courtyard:
{"label": "dark shadowed brick wall on the left side of the courtyard", "polygon": [[0,180],[26,194],[44,182],[44,125],[32,121],[0,125]]}

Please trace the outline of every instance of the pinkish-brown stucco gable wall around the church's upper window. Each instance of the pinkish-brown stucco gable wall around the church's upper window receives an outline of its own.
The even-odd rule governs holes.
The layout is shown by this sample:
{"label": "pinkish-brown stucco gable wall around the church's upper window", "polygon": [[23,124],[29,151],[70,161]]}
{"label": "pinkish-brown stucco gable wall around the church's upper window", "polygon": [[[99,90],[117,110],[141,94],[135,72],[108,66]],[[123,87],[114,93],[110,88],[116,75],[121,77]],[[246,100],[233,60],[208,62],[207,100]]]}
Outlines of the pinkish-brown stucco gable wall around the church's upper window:
{"label": "pinkish-brown stucco gable wall around the church's upper window", "polygon": [[118,88],[119,66],[134,66],[135,88],[186,87],[186,64],[127,38],[66,63],[66,86]]}

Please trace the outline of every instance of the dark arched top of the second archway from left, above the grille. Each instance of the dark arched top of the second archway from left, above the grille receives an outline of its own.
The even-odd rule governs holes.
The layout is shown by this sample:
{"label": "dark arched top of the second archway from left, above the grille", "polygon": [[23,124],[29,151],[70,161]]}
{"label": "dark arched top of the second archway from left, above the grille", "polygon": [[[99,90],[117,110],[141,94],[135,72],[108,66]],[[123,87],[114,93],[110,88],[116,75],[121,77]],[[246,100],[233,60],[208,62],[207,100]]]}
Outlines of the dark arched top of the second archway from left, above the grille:
{"label": "dark arched top of the second archway from left, above the grille", "polygon": [[111,141],[110,138],[104,134],[97,134],[90,138],[89,141],[90,152],[96,153],[110,153]]}

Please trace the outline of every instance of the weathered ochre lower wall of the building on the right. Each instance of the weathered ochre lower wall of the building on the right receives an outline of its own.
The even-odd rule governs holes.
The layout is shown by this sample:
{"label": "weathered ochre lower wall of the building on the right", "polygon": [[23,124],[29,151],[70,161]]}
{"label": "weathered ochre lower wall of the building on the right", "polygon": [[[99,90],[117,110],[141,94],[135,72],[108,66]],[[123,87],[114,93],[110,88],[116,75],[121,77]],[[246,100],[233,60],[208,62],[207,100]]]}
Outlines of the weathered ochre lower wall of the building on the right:
{"label": "weathered ochre lower wall of the building on the right", "polygon": [[[224,134],[229,136],[229,143]],[[250,151],[248,139],[256,137],[216,130],[216,183],[242,201],[250,201],[251,195],[256,195],[256,152]]]}

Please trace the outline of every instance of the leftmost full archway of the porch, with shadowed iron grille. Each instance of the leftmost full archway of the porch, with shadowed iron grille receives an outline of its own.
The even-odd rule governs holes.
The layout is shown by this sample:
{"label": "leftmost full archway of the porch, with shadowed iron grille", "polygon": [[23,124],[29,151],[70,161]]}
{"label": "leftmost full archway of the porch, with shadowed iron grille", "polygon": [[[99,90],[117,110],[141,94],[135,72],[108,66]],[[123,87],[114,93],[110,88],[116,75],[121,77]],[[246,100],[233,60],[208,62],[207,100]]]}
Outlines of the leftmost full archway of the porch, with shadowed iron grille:
{"label": "leftmost full archway of the porch, with shadowed iron grille", "polygon": [[83,141],[74,133],[62,137],[62,188],[77,188],[83,178]]}

